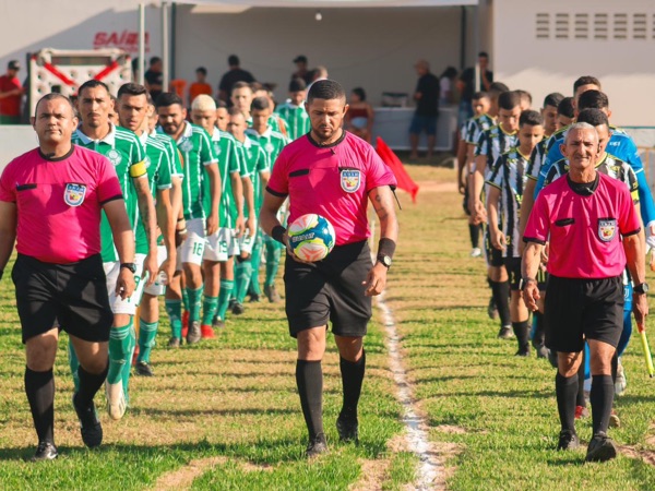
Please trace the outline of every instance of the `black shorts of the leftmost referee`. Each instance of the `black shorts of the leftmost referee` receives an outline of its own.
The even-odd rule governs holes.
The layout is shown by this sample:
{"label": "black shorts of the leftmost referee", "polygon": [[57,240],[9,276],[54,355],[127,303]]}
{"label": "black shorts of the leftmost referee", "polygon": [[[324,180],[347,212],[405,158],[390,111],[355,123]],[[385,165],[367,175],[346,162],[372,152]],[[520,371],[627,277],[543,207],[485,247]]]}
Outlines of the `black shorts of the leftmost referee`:
{"label": "black shorts of the leftmost referee", "polygon": [[19,254],[11,276],[23,343],[50,331],[56,322],[80,339],[109,340],[114,314],[100,254],[70,264]]}

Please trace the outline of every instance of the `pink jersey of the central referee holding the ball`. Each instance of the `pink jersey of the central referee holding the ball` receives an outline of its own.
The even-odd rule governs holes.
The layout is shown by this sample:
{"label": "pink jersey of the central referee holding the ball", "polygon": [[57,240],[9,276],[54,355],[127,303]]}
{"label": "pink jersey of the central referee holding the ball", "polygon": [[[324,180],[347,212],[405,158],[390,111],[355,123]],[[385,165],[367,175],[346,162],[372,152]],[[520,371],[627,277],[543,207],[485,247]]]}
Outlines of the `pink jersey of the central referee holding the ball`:
{"label": "pink jersey of the central referee holding the ball", "polygon": [[332,145],[302,136],[284,147],[269,181],[276,196],[289,196],[289,223],[308,213],[324,216],[334,227],[336,246],[370,236],[368,193],[396,185],[392,170],[371,145],[344,131]]}

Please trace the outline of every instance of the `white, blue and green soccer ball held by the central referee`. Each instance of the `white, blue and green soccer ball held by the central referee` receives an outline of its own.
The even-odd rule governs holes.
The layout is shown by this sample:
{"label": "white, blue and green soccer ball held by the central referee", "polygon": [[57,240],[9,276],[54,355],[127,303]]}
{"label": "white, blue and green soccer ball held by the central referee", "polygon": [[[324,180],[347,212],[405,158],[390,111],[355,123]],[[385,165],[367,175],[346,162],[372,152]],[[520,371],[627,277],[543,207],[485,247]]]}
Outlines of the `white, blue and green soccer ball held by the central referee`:
{"label": "white, blue and green soccer ball held by the central referee", "polygon": [[321,261],[334,248],[335,235],[332,224],[321,215],[309,213],[289,225],[289,246],[302,261]]}

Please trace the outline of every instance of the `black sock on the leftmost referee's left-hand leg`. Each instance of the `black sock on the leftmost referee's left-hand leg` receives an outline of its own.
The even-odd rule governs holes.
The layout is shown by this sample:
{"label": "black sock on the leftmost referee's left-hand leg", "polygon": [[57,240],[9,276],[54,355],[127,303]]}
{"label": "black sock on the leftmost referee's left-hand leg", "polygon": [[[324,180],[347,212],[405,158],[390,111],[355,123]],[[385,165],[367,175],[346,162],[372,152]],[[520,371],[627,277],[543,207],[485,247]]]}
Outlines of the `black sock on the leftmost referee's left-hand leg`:
{"label": "black sock on the leftmost referee's left-hand leg", "polygon": [[39,442],[55,443],[55,378],[52,369],[35,372],[25,367],[25,393]]}

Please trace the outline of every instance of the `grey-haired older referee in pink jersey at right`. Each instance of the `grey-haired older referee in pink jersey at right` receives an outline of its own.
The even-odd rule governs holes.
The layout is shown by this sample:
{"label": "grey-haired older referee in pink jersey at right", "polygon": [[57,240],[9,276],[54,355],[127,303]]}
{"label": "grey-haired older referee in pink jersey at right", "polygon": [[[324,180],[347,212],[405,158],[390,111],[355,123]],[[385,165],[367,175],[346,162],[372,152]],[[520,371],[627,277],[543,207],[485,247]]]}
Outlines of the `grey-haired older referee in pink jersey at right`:
{"label": "grey-haired older referee in pink jersey at right", "polygon": [[523,295],[537,310],[535,276],[549,241],[546,346],[558,354],[555,379],[561,422],[558,450],[580,445],[575,433],[577,369],[586,339],[592,364],[593,436],[587,462],[609,460],[617,448],[607,436],[614,400],[611,359],[623,328],[626,266],[634,283],[638,323],[648,313],[644,238],[628,187],[596,171],[598,134],[587,123],[569,130],[561,151],[569,172],[539,193],[524,233]]}

